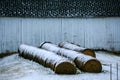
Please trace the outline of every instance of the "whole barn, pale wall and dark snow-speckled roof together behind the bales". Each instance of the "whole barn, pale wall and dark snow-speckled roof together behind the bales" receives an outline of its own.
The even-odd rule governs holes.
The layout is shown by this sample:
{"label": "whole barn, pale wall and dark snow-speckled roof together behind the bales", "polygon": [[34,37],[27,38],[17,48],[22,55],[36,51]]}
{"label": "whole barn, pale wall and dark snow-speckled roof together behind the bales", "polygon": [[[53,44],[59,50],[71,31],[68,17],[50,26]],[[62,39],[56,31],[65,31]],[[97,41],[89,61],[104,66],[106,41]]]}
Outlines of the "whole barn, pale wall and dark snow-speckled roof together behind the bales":
{"label": "whole barn, pale wall and dark snow-speckled roof together behind the bales", "polygon": [[70,41],[91,49],[120,51],[120,1],[1,0],[0,53],[22,43]]}

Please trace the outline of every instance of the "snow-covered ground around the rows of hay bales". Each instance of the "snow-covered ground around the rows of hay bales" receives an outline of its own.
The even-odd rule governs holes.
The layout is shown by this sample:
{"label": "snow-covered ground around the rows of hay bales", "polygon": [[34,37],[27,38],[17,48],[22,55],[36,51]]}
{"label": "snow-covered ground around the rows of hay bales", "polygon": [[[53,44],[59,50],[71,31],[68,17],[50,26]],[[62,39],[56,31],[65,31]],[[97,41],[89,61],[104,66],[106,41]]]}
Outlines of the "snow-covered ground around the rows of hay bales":
{"label": "snow-covered ground around the rows of hay bales", "polygon": [[0,59],[0,80],[120,80],[120,56],[99,51],[96,57],[102,63],[101,73],[77,70],[74,75],[60,75],[14,54]]}

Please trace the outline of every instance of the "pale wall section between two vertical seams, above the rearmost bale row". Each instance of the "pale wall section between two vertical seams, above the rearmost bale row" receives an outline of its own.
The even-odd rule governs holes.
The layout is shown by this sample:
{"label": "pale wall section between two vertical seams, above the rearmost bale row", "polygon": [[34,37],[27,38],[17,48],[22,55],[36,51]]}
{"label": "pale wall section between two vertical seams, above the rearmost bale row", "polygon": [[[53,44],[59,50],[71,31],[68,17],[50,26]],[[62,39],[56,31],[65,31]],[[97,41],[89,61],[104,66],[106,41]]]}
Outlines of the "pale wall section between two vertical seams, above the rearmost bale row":
{"label": "pale wall section between two vertical seams, above the rearmost bale row", "polygon": [[63,19],[62,35],[63,41],[75,42],[83,45],[84,23],[82,19]]}

